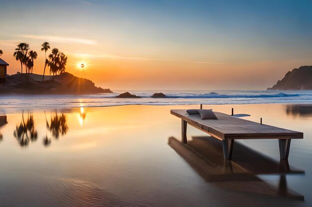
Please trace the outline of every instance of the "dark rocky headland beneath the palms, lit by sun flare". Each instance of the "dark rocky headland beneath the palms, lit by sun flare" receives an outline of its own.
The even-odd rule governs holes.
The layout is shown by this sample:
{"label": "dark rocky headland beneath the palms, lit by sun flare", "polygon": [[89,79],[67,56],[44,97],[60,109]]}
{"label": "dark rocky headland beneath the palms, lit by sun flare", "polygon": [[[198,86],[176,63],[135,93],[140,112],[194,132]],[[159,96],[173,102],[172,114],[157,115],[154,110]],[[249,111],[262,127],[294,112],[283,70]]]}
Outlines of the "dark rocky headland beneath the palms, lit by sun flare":
{"label": "dark rocky headland beneath the palms, lit by sun flare", "polygon": [[86,78],[76,77],[71,73],[64,72],[59,75],[45,76],[42,82],[42,75],[29,74],[29,80],[23,73],[23,82],[20,82],[20,73],[6,75],[6,82],[0,85],[0,94],[94,94],[112,93],[110,89],[96,87],[94,82]]}

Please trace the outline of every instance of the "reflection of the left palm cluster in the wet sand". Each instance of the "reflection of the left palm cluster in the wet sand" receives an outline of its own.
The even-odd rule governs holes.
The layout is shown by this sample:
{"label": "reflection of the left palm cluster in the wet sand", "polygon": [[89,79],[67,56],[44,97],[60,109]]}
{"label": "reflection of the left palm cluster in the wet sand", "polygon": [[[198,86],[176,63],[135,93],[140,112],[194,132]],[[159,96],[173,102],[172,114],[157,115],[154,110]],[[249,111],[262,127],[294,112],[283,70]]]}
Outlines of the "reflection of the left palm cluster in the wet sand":
{"label": "reflection of the left palm cluster in the wet sand", "polygon": [[[29,135],[28,135],[29,133]],[[27,121],[24,121],[24,111],[22,112],[22,121],[19,126],[16,125],[16,129],[13,133],[14,137],[17,138],[19,145],[27,146],[29,139],[35,141],[38,138],[38,133],[35,129],[34,119],[31,113],[28,113]]]}

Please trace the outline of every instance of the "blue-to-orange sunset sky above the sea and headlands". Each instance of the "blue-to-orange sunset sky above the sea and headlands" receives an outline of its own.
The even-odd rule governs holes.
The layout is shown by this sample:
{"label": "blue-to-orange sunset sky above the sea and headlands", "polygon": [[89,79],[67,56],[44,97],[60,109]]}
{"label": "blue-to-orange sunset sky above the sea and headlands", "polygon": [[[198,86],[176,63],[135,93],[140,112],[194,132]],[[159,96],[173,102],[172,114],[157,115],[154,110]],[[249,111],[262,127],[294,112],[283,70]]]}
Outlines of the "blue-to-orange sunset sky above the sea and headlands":
{"label": "blue-to-orange sunset sky above the sea and headlands", "polygon": [[0,0],[1,58],[20,71],[26,42],[42,74],[47,41],[66,71],[104,88],[261,90],[312,65],[311,11],[312,0]]}

